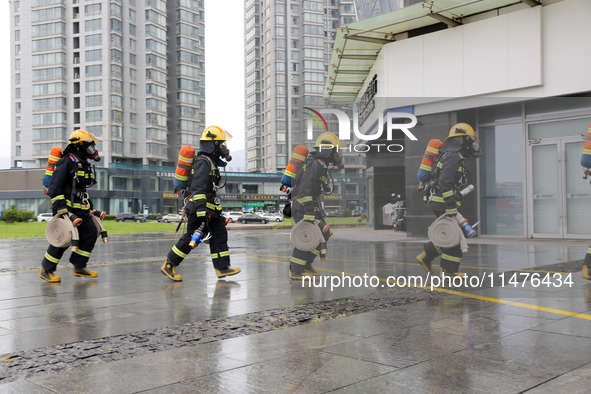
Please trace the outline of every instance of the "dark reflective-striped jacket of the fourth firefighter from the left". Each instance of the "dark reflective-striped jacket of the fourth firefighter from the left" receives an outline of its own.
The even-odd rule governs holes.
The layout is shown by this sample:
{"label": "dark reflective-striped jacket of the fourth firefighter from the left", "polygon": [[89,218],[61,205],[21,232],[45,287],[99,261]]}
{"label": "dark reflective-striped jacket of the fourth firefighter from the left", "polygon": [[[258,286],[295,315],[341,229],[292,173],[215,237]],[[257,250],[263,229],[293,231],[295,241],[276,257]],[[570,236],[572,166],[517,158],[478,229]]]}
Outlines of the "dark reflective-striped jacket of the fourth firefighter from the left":
{"label": "dark reflective-striped jacket of the fourth firefighter from the left", "polygon": [[456,191],[466,178],[464,159],[458,152],[445,152],[437,162],[433,177],[437,186],[429,198],[429,206],[435,211],[445,211],[447,215],[457,214],[461,201]]}

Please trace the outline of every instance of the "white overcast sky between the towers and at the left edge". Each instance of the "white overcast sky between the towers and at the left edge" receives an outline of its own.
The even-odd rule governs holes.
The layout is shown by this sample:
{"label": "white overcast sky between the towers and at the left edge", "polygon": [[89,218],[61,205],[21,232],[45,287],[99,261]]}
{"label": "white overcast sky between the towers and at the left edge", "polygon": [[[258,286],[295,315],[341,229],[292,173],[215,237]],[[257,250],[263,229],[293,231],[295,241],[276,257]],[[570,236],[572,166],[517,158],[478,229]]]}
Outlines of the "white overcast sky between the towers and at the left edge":
{"label": "white overcast sky between the towers and at the left edge", "polygon": [[[206,123],[233,135],[230,151],[244,149],[244,2],[205,0]],[[10,167],[10,3],[0,15],[0,169]],[[100,144],[99,144],[100,149]]]}

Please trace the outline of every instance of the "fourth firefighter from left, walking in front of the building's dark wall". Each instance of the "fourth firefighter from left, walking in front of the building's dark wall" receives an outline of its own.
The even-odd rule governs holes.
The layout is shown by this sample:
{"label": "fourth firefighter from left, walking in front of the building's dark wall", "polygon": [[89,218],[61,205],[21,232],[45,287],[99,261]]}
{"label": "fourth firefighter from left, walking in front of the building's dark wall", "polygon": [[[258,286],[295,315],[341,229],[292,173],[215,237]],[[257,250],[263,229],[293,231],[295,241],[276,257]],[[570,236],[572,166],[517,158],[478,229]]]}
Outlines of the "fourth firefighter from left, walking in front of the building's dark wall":
{"label": "fourth firefighter from left, walking in front of the building's dark wall", "polygon": [[[428,205],[436,217],[446,214],[454,217],[461,206],[462,186],[468,183],[464,161],[481,155],[478,135],[467,123],[452,126],[449,135],[439,150],[439,161],[432,174],[435,187],[431,190]],[[432,261],[441,255],[441,275],[463,276],[459,272],[462,262],[460,245],[452,248],[440,248],[432,242],[424,245],[424,252],[417,256],[418,262],[429,272],[434,273]]]}

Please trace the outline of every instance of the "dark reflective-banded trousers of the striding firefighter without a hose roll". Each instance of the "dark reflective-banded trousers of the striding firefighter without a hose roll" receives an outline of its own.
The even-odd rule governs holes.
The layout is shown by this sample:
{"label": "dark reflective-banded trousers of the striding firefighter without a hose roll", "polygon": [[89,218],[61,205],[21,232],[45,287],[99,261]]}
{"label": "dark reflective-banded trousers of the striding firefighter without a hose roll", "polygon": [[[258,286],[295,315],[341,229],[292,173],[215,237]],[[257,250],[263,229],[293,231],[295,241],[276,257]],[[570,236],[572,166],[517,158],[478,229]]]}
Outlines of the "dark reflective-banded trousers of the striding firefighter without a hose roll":
{"label": "dark reflective-banded trousers of the striding firefighter without a hose roll", "polygon": [[[189,242],[195,230],[203,223],[204,218],[198,218],[195,211],[188,212],[187,232],[184,233],[176,245],[168,252],[168,262],[175,267],[178,266],[191,252]],[[228,250],[228,230],[224,226],[224,220],[219,215],[212,216],[211,220],[205,226],[206,235],[211,234],[209,239],[209,251],[211,261],[216,269],[224,269],[230,266],[230,252]]]}

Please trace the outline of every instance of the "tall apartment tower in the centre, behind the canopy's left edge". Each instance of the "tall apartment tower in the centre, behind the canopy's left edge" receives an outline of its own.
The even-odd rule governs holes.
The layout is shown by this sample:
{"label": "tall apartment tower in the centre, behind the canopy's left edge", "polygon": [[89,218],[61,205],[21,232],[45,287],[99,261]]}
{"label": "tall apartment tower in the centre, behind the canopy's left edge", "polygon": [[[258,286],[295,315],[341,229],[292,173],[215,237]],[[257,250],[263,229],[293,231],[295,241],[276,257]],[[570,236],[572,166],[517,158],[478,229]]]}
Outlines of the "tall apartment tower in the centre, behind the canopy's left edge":
{"label": "tall apartment tower in the centre, behind the canopy's left edge", "polygon": [[[337,28],[354,21],[353,0],[245,1],[247,171],[283,171],[293,146],[310,145],[304,107],[325,107]],[[363,158],[345,164],[353,172]]]}

